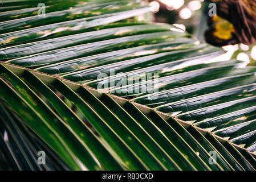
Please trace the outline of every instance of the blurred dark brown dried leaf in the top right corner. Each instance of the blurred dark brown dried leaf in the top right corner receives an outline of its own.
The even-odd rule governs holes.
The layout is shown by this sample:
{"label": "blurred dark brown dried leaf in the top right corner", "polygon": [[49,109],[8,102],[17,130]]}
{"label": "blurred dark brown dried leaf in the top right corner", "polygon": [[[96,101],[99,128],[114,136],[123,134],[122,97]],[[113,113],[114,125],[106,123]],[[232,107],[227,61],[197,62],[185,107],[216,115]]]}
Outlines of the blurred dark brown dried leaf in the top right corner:
{"label": "blurred dark brown dried leaf in the top right corner", "polygon": [[217,4],[217,14],[234,26],[238,43],[256,43],[256,0],[222,0]]}

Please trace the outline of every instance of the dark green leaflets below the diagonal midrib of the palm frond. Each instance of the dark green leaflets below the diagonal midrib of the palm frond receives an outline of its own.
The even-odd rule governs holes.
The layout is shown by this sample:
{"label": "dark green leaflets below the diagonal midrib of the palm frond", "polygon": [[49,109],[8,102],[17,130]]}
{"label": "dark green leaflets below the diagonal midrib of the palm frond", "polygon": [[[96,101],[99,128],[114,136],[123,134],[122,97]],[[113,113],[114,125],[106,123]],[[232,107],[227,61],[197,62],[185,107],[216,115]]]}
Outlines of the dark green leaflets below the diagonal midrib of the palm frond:
{"label": "dark green leaflets below the diagonal midrib of the palm frond", "polygon": [[[14,72],[11,72],[9,68]],[[68,142],[64,137],[65,134],[70,139],[78,139],[80,145],[87,146],[85,148],[90,151],[88,153],[95,156],[100,163],[98,167],[101,169],[102,167],[113,169],[115,164],[112,163],[113,161],[116,161],[117,167],[120,166],[123,169],[254,169],[253,154],[245,149],[230,144],[227,140],[217,138],[189,123],[177,121],[169,115],[158,113],[149,107],[11,64],[2,63],[1,72],[3,73],[1,76],[2,99],[24,118],[23,121],[26,122],[26,125],[29,125],[39,137],[48,143],[46,136],[39,133],[42,131],[37,132],[36,128],[41,126],[40,120],[36,119],[38,121],[36,126],[31,125],[26,114],[23,115],[30,113],[27,108],[31,108],[36,114],[40,113],[39,105],[46,107],[48,105],[48,109],[44,110],[58,114],[58,127],[54,126],[57,125],[54,121],[48,127],[47,125],[43,126],[42,122],[41,127],[48,128],[52,134],[58,134],[56,138],[60,138],[60,141],[64,143]],[[23,78],[23,81],[19,77]],[[39,96],[44,96],[44,99],[40,100]],[[46,96],[49,100],[45,100]],[[26,106],[25,111],[20,105],[17,106],[18,101],[14,100],[16,97],[23,100],[22,103]],[[65,104],[62,101],[63,97],[65,97],[65,102],[68,100],[74,104],[80,114],[77,114],[78,111],[72,111],[72,105]],[[40,104],[35,104],[39,101]],[[61,105],[56,104],[57,101]],[[86,125],[82,118],[86,118],[86,121],[90,122],[92,126]],[[62,133],[60,129],[65,131],[63,135],[60,135]],[[89,131],[96,138],[94,142],[91,142],[87,136]],[[204,140],[204,143],[201,140]],[[72,152],[84,166],[91,166],[88,159],[83,161],[85,154],[80,159],[81,156],[76,151],[79,148],[78,142],[76,148],[72,148],[69,144],[62,146],[63,150],[68,148],[69,150],[67,150]],[[100,151],[94,150],[97,146],[101,146]],[[51,147],[57,154],[59,153],[59,147]],[[100,158],[100,154],[104,152],[103,149],[106,152],[104,158]],[[217,152],[217,165],[209,165],[210,151]],[[107,154],[109,155],[108,160],[115,159],[109,166],[111,168],[107,166]],[[60,156],[63,158],[63,155]],[[67,162],[70,162],[70,159]]]}

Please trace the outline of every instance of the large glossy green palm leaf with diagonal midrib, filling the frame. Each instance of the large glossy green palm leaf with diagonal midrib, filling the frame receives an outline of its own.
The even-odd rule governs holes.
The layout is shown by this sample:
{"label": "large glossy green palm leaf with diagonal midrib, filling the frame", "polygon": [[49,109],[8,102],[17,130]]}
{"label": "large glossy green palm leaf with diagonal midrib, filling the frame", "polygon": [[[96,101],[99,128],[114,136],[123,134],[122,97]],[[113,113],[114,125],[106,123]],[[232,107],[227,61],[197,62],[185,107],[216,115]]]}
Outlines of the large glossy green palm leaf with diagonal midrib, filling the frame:
{"label": "large glossy green palm leaf with diagonal midrib, filling the frame", "polygon": [[149,11],[137,1],[42,2],[45,17],[29,0],[0,13],[11,169],[256,169],[254,67],[218,62],[221,48],[177,27],[127,19]]}

